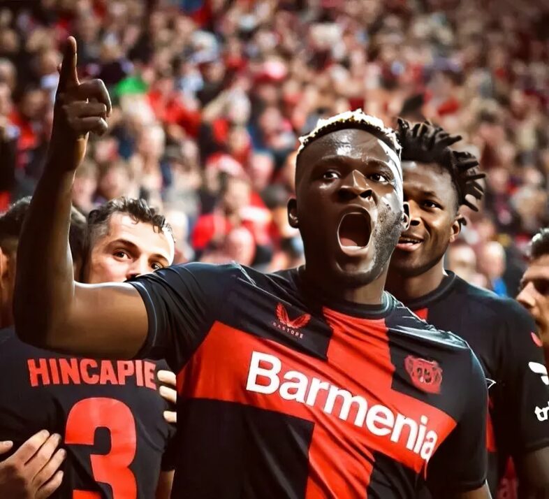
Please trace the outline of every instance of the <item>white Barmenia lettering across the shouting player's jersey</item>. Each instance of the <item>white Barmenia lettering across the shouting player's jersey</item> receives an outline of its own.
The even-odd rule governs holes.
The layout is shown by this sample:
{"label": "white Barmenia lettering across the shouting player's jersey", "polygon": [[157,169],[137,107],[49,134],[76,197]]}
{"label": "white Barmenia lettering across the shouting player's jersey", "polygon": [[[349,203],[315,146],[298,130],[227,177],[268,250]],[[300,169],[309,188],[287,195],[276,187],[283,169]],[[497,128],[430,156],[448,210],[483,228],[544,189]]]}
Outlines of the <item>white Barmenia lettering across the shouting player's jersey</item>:
{"label": "white Barmenia lettering across the shouting player's jersey", "polygon": [[[395,413],[384,405],[372,405],[361,395],[353,395],[318,377],[309,379],[296,370],[288,370],[280,375],[282,363],[277,356],[262,352],[252,352],[246,389],[256,393],[272,395],[279,392],[284,400],[295,400],[313,407],[321,390],[327,391],[325,402],[318,405],[326,414],[333,414],[355,426],[365,427],[378,437],[389,437],[391,442],[404,444],[409,451],[429,461],[437,445],[438,435],[428,429],[427,416],[420,421]],[[339,409],[336,410],[336,407]]]}

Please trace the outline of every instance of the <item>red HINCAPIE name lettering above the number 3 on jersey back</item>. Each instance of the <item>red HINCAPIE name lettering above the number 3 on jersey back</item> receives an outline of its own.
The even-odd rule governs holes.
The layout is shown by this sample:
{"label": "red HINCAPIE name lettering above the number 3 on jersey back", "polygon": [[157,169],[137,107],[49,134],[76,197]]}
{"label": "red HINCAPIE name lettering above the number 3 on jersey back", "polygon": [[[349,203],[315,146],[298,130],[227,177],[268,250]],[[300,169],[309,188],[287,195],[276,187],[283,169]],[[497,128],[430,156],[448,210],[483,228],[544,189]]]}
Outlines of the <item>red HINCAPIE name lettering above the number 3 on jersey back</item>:
{"label": "red HINCAPIE name lettering above the number 3 on jersey back", "polygon": [[94,359],[28,359],[31,386],[47,384],[121,384],[156,390],[154,363]]}

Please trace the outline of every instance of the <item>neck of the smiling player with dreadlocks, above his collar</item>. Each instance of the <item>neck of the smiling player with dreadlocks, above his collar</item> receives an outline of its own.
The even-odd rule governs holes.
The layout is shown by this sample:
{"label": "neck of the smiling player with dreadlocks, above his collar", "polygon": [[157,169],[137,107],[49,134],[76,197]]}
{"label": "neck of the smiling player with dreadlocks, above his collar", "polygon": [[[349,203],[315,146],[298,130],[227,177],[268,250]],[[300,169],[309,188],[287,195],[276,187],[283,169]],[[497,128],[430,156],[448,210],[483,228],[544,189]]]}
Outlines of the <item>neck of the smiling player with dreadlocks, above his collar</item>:
{"label": "neck of the smiling player with dreadlocks, above his collar", "polygon": [[440,259],[436,265],[423,274],[411,277],[403,275],[398,270],[390,269],[386,288],[395,298],[407,303],[407,301],[417,300],[437,289],[446,275],[443,259]]}

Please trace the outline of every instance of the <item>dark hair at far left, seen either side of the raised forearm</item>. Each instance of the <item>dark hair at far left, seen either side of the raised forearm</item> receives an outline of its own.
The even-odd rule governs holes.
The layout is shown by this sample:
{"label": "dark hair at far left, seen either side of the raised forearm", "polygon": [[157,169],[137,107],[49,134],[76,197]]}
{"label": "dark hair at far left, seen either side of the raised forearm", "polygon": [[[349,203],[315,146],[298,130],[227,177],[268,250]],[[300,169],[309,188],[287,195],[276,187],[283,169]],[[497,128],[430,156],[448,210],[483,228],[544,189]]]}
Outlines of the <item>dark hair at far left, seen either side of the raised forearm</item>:
{"label": "dark hair at far left, seen either side of the raised forearm", "polygon": [[[17,252],[17,243],[23,222],[31,205],[31,196],[15,201],[0,215],[0,247],[9,254]],[[76,208],[71,209],[71,226],[68,230],[68,244],[73,261],[80,261],[85,255],[87,237],[86,217]]]}

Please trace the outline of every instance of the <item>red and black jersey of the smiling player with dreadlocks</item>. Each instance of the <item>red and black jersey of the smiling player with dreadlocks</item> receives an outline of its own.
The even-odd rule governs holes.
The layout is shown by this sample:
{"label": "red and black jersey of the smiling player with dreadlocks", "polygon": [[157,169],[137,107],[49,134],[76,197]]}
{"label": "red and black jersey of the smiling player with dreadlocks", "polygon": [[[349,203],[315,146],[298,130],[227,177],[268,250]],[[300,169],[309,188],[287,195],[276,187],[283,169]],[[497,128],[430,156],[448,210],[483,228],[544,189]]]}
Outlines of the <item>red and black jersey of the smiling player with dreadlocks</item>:
{"label": "red and black jersey of the smiling player with dreadlocks", "polygon": [[406,305],[466,340],[486,377],[495,381],[486,439],[493,495],[509,456],[549,446],[549,379],[534,321],[511,298],[472,286],[451,272],[435,291]]}

